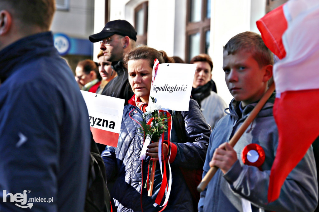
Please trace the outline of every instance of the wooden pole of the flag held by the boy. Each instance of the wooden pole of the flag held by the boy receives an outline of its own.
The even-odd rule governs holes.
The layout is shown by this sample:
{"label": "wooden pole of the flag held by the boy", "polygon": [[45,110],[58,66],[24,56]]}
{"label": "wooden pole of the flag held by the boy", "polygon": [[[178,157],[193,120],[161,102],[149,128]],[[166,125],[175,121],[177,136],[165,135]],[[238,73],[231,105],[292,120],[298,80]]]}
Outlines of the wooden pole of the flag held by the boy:
{"label": "wooden pole of the flag held by the boy", "polygon": [[[249,116],[246,118],[246,120],[244,121],[244,123],[240,126],[240,128],[238,129],[238,131],[236,131],[236,133],[234,134],[234,136],[232,137],[232,139],[230,139],[229,144],[234,147],[235,144],[237,143],[237,141],[239,140],[239,138],[242,136],[242,134],[246,131],[246,129],[248,128],[248,126],[252,123],[252,121],[256,118],[257,114],[259,113],[259,111],[263,108],[264,104],[267,102],[267,100],[270,98],[271,94],[274,92],[275,90],[275,84],[272,83],[271,86],[268,88],[267,92],[263,95],[263,97],[259,100],[259,102],[256,104],[255,108],[251,111],[251,113],[249,114]],[[202,192],[204,191],[204,189],[206,188],[206,186],[208,185],[209,181],[211,180],[211,178],[215,175],[215,173],[217,172],[218,167],[214,166],[211,167],[210,170],[206,173],[206,175],[204,176],[204,178],[202,179],[202,181],[199,183],[199,185],[197,186],[197,191]]]}

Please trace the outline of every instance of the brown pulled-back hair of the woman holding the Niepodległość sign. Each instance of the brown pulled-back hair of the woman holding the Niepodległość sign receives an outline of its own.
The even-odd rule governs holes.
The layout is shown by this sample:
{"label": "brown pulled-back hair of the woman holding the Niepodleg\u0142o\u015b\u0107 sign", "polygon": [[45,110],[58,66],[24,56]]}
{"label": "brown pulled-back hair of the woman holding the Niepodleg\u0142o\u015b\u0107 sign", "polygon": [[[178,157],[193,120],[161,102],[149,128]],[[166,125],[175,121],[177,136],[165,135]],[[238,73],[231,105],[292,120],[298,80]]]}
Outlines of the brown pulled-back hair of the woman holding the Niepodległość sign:
{"label": "brown pulled-back hair of the woman holding the Niepodleg\u0142o\u015b\u0107 sign", "polygon": [[140,46],[125,55],[123,60],[124,67],[127,69],[127,63],[129,60],[141,59],[149,60],[150,67],[153,67],[155,59],[159,60],[159,63],[174,63],[174,59],[168,57],[166,52],[157,51],[156,49],[148,46]]}

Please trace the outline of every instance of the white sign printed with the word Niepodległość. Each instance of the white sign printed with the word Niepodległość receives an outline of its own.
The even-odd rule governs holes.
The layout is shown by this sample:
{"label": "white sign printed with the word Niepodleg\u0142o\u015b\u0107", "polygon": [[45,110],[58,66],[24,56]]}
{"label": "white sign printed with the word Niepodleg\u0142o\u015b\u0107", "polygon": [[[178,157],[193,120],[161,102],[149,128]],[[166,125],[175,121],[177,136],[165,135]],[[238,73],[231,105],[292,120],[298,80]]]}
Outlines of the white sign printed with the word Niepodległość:
{"label": "white sign printed with the word Niepodleg\u0142o\u015b\u0107", "polygon": [[188,111],[195,70],[196,64],[159,64],[150,96],[167,110]]}

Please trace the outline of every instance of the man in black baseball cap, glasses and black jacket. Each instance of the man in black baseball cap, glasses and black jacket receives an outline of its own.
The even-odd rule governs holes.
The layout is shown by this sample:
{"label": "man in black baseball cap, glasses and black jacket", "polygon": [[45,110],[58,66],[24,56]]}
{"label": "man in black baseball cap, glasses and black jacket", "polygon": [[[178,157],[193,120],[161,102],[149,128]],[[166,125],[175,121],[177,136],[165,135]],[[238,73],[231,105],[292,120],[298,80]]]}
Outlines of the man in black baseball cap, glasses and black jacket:
{"label": "man in black baseball cap, glasses and black jacket", "polygon": [[102,95],[124,99],[125,104],[128,104],[133,92],[122,60],[135,47],[136,34],[134,27],[126,20],[114,20],[109,21],[101,32],[89,36],[91,42],[100,42],[105,59],[112,62],[112,68],[118,75],[104,87]]}

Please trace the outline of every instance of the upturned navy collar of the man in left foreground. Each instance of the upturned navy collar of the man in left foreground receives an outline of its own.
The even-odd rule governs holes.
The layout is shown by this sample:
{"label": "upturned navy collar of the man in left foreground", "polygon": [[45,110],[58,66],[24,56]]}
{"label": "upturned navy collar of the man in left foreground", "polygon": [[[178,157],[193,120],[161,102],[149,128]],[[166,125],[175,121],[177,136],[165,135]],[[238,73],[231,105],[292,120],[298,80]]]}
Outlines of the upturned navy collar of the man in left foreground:
{"label": "upturned navy collar of the man in left foreground", "polygon": [[17,66],[36,59],[37,55],[49,54],[54,48],[52,32],[34,34],[5,47],[0,51],[0,81],[3,83]]}

